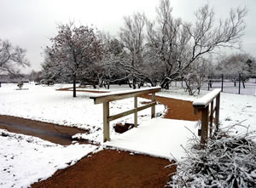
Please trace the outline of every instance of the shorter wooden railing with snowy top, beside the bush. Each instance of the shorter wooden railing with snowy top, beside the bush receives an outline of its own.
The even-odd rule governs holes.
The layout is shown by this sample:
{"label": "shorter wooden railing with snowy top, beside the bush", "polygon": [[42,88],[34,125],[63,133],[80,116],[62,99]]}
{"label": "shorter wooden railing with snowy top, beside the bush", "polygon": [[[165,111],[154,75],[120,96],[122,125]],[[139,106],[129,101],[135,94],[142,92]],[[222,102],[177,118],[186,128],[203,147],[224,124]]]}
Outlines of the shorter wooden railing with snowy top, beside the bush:
{"label": "shorter wooden railing with snowy top, beside the bush", "polygon": [[[220,88],[215,88],[209,94],[206,94],[201,99],[195,100],[195,102],[193,102],[194,113],[197,114],[198,111],[201,111],[201,129],[198,131],[198,135],[201,136],[201,145],[206,143],[208,133],[210,134],[210,137],[212,137],[212,122],[214,112],[214,122],[216,129],[218,130],[220,91]],[[208,130],[209,126],[210,130]]]}

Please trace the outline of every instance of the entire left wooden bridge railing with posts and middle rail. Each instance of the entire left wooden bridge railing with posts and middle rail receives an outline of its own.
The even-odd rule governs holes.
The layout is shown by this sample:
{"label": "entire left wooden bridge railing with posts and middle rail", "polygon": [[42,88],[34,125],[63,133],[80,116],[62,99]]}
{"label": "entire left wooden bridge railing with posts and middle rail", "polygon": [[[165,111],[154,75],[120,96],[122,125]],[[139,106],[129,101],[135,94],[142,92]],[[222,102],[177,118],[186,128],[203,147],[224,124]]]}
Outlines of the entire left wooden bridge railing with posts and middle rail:
{"label": "entire left wooden bridge railing with posts and middle rail", "polygon": [[[94,100],[94,104],[101,104],[103,103],[103,142],[106,142],[110,139],[109,136],[109,122],[118,119],[120,117],[128,116],[134,113],[134,126],[137,127],[137,112],[143,111],[146,108],[151,107],[151,118],[155,117],[155,93],[160,91],[160,87],[154,88],[142,88],[142,89],[133,89],[129,91],[121,91],[121,92],[114,92],[108,94],[97,94],[91,96],[90,99]],[[137,107],[137,97],[143,94],[152,94],[151,102],[148,105],[143,105]],[[114,100],[124,100],[127,98],[134,97],[134,109],[130,111],[124,111],[122,113],[109,116],[109,102]]]}

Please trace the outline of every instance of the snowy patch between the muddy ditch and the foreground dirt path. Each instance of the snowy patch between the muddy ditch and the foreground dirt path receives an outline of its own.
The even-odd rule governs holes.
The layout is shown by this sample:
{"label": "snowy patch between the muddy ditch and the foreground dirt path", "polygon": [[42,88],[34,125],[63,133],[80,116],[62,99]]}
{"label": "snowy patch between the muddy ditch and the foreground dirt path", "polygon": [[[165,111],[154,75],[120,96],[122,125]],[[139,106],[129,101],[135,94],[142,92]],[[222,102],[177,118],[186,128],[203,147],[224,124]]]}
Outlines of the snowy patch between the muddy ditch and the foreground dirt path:
{"label": "snowy patch between the muddy ditch and the foreground dirt path", "polygon": [[28,187],[96,150],[96,145],[56,145],[3,129],[0,143],[0,187]]}

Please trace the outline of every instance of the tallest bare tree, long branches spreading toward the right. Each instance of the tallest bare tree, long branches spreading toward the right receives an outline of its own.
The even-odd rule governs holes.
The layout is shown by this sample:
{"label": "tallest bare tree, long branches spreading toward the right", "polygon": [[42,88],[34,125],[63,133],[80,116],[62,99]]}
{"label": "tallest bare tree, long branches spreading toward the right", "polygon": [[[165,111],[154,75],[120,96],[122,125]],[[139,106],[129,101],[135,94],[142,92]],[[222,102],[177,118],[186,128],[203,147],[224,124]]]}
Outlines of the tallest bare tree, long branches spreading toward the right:
{"label": "tallest bare tree, long branches spreading toward the right", "polygon": [[218,24],[214,22],[214,12],[208,5],[195,13],[194,24],[175,19],[168,0],[160,1],[157,13],[156,24],[148,22],[148,51],[154,63],[162,67],[160,85],[166,88],[191,64],[211,54],[214,49],[238,48],[247,10],[231,9],[230,17],[219,20]]}

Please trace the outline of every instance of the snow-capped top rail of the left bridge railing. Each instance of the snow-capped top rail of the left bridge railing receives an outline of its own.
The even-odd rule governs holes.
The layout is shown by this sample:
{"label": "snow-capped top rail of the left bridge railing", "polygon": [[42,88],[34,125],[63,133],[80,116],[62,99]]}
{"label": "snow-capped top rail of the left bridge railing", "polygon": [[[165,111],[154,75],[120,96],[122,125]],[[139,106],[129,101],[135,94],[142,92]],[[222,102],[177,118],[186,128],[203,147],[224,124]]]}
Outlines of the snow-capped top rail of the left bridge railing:
{"label": "snow-capped top rail of the left bridge railing", "polygon": [[103,102],[109,102],[113,100],[124,100],[131,97],[136,97],[142,94],[156,93],[161,90],[160,87],[147,88],[147,89],[134,89],[125,92],[109,93],[109,94],[98,94],[90,96],[90,99],[94,100],[94,104],[101,104]]}

